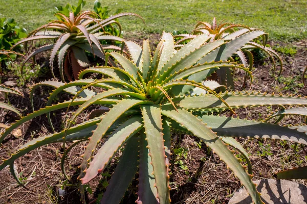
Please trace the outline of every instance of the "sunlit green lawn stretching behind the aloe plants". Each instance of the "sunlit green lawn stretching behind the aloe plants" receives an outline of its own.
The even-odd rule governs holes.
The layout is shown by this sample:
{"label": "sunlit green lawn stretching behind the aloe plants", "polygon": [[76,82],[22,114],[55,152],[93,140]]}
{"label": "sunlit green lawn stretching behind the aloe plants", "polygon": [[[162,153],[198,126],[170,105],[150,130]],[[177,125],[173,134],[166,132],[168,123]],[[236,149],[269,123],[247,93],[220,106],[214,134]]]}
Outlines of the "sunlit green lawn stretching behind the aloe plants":
{"label": "sunlit green lawn stretching behind the aloe plants", "polygon": [[[86,9],[92,9],[95,0],[87,0]],[[2,0],[0,17],[13,17],[28,30],[54,19],[54,7],[77,0]],[[120,20],[128,33],[161,33],[163,30],[190,32],[196,21],[211,22],[214,16],[221,22],[233,22],[264,29],[275,40],[307,38],[306,0],[100,0],[113,11],[134,12],[146,21],[124,17]]]}

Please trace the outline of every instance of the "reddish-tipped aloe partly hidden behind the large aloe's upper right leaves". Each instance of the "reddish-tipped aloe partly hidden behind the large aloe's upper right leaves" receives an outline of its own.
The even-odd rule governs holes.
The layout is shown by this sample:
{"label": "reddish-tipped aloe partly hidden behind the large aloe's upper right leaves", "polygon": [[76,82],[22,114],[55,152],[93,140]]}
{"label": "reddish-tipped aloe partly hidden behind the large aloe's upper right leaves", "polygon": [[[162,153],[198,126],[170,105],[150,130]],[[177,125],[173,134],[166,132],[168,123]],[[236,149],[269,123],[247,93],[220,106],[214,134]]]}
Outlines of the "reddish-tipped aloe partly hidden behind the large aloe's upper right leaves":
{"label": "reddish-tipped aloe partly hidden behind the large aloe's upper right leaves", "polygon": [[[180,34],[174,36],[175,39],[177,39],[176,45],[182,46],[182,44],[187,43],[189,40],[193,39],[197,35],[208,35],[212,38],[212,40],[217,39],[225,39],[225,40],[231,40],[236,38],[239,35],[242,35],[244,33],[250,32],[252,30],[257,30],[248,27],[247,25],[241,25],[241,24],[233,24],[233,23],[221,23],[217,24],[216,18],[213,18],[212,24],[208,22],[201,22],[199,21],[196,25],[194,30],[192,31],[192,34]],[[273,50],[269,45],[267,45],[268,36],[263,35],[262,36],[262,44],[259,44],[259,39],[253,39],[250,42],[247,42],[245,46],[241,47],[237,50],[235,53],[235,56],[230,56],[230,60],[235,61],[234,57],[237,57],[245,67],[248,67],[250,71],[253,69],[253,63],[254,63],[254,57],[251,51],[265,53],[269,58],[271,59],[273,63],[273,76],[276,70],[276,60],[279,61],[280,64],[280,70],[279,74],[282,71],[282,60],[280,56]],[[275,58],[274,58],[275,57]],[[244,79],[244,86],[246,82],[246,77]],[[229,69],[221,69],[217,72],[217,78],[219,82],[223,85],[227,85],[227,87],[234,90],[234,83],[232,79],[232,74]]]}

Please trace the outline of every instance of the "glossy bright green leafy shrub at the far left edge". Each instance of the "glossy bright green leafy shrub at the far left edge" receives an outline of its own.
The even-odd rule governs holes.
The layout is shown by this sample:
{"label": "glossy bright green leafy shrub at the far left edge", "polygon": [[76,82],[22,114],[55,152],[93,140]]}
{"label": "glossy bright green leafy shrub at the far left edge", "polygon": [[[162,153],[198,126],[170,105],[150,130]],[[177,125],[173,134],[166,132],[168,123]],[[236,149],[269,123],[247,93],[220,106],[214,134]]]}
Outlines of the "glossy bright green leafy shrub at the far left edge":
{"label": "glossy bright green leafy shrub at the far left edge", "polygon": [[[27,37],[26,29],[20,28],[13,18],[0,18],[0,50],[9,50],[21,38]],[[8,60],[14,60],[16,53],[0,55],[0,70]]]}

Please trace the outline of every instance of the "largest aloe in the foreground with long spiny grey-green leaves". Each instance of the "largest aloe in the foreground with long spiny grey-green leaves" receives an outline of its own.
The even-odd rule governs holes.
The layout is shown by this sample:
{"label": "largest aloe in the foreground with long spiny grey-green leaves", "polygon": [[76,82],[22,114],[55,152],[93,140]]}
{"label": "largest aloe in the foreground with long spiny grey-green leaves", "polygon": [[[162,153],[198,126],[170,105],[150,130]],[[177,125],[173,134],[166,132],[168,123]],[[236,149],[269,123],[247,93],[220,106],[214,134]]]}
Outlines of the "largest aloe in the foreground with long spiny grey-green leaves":
{"label": "largest aloe in the foreground with long spiny grey-green leaves", "polygon": [[[251,72],[245,66],[227,60],[247,42],[264,34],[263,31],[254,30],[231,40],[211,40],[208,35],[198,35],[176,50],[172,35],[163,33],[153,56],[147,40],[144,40],[143,47],[129,42],[126,45],[130,59],[116,52],[107,55],[113,57],[120,67],[89,68],[79,74],[79,80],[67,84],[46,81],[35,85],[31,97],[39,86],[54,88],[46,108],[16,121],[1,135],[0,142],[18,125],[39,115],[72,106],[78,109],[67,121],[64,130],[28,141],[3,161],[0,170],[9,165],[16,181],[21,183],[14,172],[14,161],[19,157],[50,143],[77,141],[75,145],[87,141],[79,166],[80,192],[84,200],[83,185],[102,173],[119,149],[124,147],[100,202],[119,203],[120,195],[124,195],[131,180],[138,174],[137,203],[170,203],[171,133],[181,131],[204,141],[238,177],[253,202],[264,203],[252,182],[247,152],[233,137],[281,139],[305,145],[305,132],[296,130],[296,127],[210,115],[208,112],[229,110],[235,113],[239,107],[303,107],[307,105],[307,99],[260,92],[217,93],[214,89],[221,85],[206,80],[211,73],[222,67],[235,67],[250,75]],[[84,74],[90,72],[101,73],[108,78],[82,79]],[[206,83],[202,83],[204,80]],[[94,92],[90,87],[106,90]],[[207,93],[194,93],[194,87],[206,90]],[[53,99],[60,92],[70,93],[73,98],[52,105]],[[105,112],[104,109],[104,113],[74,125],[78,115],[92,105],[108,107],[109,111]],[[100,142],[102,144],[98,148]],[[248,171],[228,145],[243,154]],[[64,159],[71,147],[63,153],[61,166],[64,174]],[[97,153],[93,157],[96,149]]]}

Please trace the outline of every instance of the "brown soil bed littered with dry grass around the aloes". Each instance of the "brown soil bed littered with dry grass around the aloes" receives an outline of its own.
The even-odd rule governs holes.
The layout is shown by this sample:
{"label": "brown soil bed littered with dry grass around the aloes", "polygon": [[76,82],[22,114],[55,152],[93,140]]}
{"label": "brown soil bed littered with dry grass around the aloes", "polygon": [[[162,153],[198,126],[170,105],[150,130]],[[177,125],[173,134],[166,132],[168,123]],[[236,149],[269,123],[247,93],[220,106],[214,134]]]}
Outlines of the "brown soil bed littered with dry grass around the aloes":
{"label": "brown soil bed littered with dry grass around the aloes", "polygon": [[[149,36],[151,46],[157,44],[160,35],[152,34]],[[133,39],[142,43],[140,39]],[[298,41],[294,43],[270,42],[272,47],[281,47],[280,52],[284,62],[284,69],[280,77],[273,78],[272,64],[269,60],[260,60],[255,64],[253,71],[254,82],[247,89],[261,92],[282,92],[295,95],[307,96],[307,90],[302,84],[302,73],[307,66],[307,41]],[[278,45],[279,44],[279,45]],[[286,48],[295,47],[296,53],[293,56],[287,55]],[[152,50],[152,49],[151,49]],[[284,54],[283,54],[284,53]],[[40,56],[36,59],[40,64],[46,61],[46,56]],[[25,94],[25,97],[9,96],[10,102],[17,109],[23,112],[23,115],[32,112],[29,103],[30,87],[39,81],[49,79],[48,74],[41,74],[40,77],[28,81],[23,87],[16,87],[18,77],[12,72],[1,77],[2,83],[10,82],[14,88]],[[243,81],[243,75],[240,72],[235,73],[235,83],[237,89]],[[34,107],[35,110],[45,105],[46,97],[50,90],[41,88],[35,92]],[[66,96],[67,97],[67,96]],[[65,95],[59,98],[65,98]],[[97,107],[86,110],[78,118],[77,123],[87,119],[87,115]],[[52,116],[56,130],[59,130],[63,121],[72,114],[71,109],[68,114],[65,110],[56,111]],[[260,119],[268,116],[270,111],[276,110],[276,107],[257,108],[250,111],[249,109],[237,109],[235,112],[238,117],[247,116],[249,119]],[[229,112],[224,114],[229,115]],[[13,122],[17,119],[16,115],[10,112],[0,112],[0,123]],[[285,117],[283,121],[287,123],[301,122],[300,117]],[[19,127],[19,132],[13,132],[0,146],[0,157],[7,158],[12,150],[30,140],[31,137],[39,137],[51,132],[47,117],[45,115],[37,117],[30,122]],[[20,137],[22,135],[22,137]],[[226,165],[220,159],[208,150],[204,143],[189,135],[177,134],[172,135],[172,165],[170,176],[170,196],[172,203],[227,203],[233,192],[240,188],[240,182],[233,173],[226,168]],[[297,152],[293,150],[293,144],[288,142],[274,142],[272,140],[247,140],[239,139],[245,144],[247,151],[250,153],[250,160],[253,165],[254,180],[274,177],[274,173],[282,170],[306,165],[306,149],[297,147]],[[85,142],[78,144],[70,152],[69,160],[66,165],[67,173],[72,177],[72,182],[65,182],[60,170],[60,158],[62,152],[61,143],[50,144],[29,152],[22,159],[16,161],[16,170],[23,172],[20,177],[26,183],[29,190],[19,187],[9,174],[9,170],[0,171],[0,203],[79,203],[78,182],[78,165],[81,162],[80,155],[84,149]],[[180,148],[181,147],[181,148]],[[87,195],[89,201],[93,201],[99,193],[105,190],[107,181],[112,174],[121,152],[112,160],[109,167],[106,168],[103,175],[96,177],[88,186]],[[100,181],[100,184],[99,184]],[[299,181],[304,184],[304,181]],[[122,203],[134,203],[136,200],[137,181],[134,180],[132,185],[123,198]],[[98,188],[96,189],[96,186]],[[59,188],[63,187],[65,194],[59,196]],[[91,190],[90,190],[91,189]],[[92,191],[92,192],[91,192]],[[92,203],[95,203],[93,201]]]}

